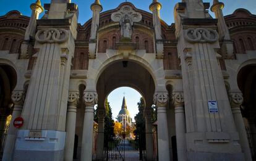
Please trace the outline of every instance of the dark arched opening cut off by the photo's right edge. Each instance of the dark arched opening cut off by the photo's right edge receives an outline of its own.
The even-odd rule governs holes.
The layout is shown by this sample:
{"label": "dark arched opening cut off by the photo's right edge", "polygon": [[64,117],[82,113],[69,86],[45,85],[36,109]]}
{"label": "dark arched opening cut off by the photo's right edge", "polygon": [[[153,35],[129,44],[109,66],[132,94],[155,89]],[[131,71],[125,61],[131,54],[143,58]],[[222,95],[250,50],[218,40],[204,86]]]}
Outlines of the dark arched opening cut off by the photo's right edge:
{"label": "dark arched opening cut off by the photo's right edge", "polygon": [[244,118],[245,130],[252,153],[253,160],[256,159],[256,64],[242,67],[237,75],[237,84],[242,91],[244,102],[241,105]]}

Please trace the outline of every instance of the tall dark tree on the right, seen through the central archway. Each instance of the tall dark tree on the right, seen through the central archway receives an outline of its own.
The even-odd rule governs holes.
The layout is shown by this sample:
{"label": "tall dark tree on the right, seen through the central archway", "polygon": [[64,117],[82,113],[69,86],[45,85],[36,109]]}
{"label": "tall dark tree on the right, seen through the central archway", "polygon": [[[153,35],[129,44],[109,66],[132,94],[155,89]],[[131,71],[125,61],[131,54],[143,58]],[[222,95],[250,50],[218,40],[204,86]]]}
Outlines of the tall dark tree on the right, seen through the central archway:
{"label": "tall dark tree on the right, seen through the central archway", "polygon": [[137,144],[139,144],[140,159],[142,159],[142,151],[146,149],[145,118],[143,115],[145,104],[142,97],[140,98],[140,102],[138,102],[137,105],[139,108],[139,113],[134,117],[136,123],[136,129],[134,130],[134,134],[136,136],[135,141],[137,142]]}

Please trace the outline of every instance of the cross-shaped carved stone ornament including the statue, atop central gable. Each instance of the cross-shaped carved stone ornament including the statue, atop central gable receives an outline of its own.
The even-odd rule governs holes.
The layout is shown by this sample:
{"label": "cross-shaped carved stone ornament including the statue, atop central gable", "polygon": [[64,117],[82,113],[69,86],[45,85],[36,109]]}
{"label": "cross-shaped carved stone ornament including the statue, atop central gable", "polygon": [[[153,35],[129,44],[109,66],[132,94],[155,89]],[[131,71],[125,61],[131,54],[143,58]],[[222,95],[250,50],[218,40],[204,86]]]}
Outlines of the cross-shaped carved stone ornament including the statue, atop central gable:
{"label": "cross-shaped carved stone ornament including the statue, atop central gable", "polygon": [[124,5],[111,15],[111,20],[119,22],[122,38],[131,39],[134,22],[140,22],[142,15],[139,12],[135,12],[131,6]]}

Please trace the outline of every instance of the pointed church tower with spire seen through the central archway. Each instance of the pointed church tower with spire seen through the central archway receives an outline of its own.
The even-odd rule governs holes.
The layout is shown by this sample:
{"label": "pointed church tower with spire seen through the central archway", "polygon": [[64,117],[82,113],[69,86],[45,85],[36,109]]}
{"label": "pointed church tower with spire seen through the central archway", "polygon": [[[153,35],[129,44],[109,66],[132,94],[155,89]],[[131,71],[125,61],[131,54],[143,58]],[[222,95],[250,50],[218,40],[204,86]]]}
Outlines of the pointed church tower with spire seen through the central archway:
{"label": "pointed church tower with spire seen through the central archway", "polygon": [[132,126],[132,119],[130,118],[129,111],[127,110],[125,97],[122,99],[122,109],[117,115],[117,120],[122,123],[123,127]]}

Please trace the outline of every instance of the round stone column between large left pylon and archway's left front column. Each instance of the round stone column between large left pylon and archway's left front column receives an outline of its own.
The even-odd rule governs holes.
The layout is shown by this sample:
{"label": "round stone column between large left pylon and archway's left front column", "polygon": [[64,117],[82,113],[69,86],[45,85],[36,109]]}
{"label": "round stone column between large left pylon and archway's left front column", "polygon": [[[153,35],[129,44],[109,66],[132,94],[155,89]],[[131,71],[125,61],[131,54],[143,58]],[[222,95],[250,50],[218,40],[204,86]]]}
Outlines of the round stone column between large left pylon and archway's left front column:
{"label": "round stone column between large left pylon and archway's left front column", "polygon": [[67,101],[67,123],[66,123],[66,141],[65,141],[65,161],[72,161],[74,155],[75,143],[75,122],[77,118],[77,101],[79,92],[69,92]]}

